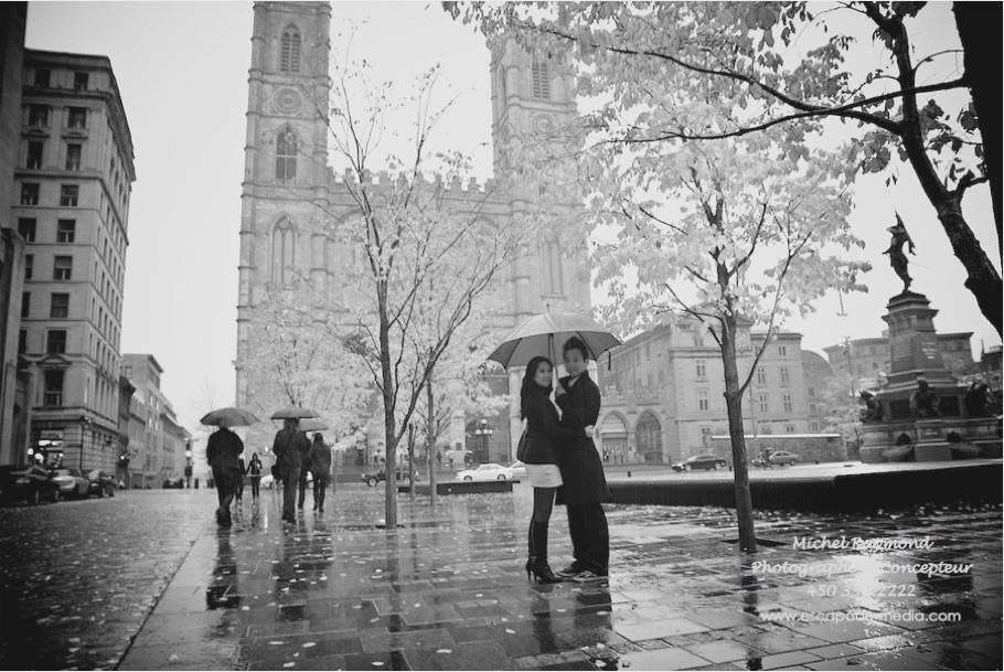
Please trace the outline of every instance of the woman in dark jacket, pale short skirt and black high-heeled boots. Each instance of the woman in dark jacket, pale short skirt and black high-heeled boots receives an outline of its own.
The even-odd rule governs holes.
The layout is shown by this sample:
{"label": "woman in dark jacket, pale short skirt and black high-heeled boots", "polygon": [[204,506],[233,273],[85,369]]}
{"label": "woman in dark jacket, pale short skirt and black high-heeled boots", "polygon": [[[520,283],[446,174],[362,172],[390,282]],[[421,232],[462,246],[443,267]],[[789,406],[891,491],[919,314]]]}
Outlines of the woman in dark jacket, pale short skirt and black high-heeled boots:
{"label": "woman in dark jacket, pale short skirt and black high-heeled boots", "polygon": [[[520,416],[526,420],[526,476],[533,486],[533,514],[530,519],[526,577],[533,574],[540,583],[562,579],[547,564],[547,530],[554,508],[555,491],[562,484],[558,446],[572,446],[579,436],[560,426],[558,410],[551,401],[553,365],[545,358],[533,358],[526,365],[520,390]],[[579,429],[579,434],[583,430]]]}

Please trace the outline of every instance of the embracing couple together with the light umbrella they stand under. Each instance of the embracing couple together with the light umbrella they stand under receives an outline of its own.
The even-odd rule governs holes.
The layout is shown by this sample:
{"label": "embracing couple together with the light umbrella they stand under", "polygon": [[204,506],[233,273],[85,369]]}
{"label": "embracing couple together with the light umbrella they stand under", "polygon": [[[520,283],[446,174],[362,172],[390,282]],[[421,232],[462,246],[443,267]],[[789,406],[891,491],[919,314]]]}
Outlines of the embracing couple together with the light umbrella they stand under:
{"label": "embracing couple together with the light umbrella they stand under", "polygon": [[[619,344],[620,340],[585,314],[547,312],[519,324],[489,355],[505,367],[526,366],[520,388],[520,417],[526,428],[517,458],[526,465],[534,493],[526,576],[533,575],[540,583],[586,583],[608,575],[610,537],[602,502],[610,492],[592,441],[600,394],[589,377],[588,363]],[[554,385],[558,348],[567,375]],[[567,508],[574,556],[557,574],[547,558],[555,501]]]}

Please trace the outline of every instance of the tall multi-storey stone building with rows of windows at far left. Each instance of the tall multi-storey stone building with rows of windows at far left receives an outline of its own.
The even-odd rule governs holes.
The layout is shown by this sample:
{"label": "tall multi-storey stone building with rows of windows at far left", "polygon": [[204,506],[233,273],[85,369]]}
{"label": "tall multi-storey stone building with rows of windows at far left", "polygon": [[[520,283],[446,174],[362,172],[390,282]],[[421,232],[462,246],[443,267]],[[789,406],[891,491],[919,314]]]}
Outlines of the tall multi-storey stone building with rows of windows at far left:
{"label": "tall multi-storey stone building with rows of windows at far left", "polygon": [[136,180],[129,125],[104,56],[25,50],[22,72],[12,218],[25,242],[18,351],[31,380],[28,450],[114,473]]}

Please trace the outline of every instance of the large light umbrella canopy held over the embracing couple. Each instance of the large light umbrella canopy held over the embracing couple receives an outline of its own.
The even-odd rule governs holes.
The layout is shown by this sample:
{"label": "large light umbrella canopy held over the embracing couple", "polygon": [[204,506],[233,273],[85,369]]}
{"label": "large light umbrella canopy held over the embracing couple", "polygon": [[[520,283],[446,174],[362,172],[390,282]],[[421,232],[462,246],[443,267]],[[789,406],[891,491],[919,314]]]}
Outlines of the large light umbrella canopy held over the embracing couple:
{"label": "large light umbrella canopy held over the embracing couple", "polygon": [[544,312],[517,324],[488,359],[506,369],[525,366],[535,356],[548,358],[554,362],[562,345],[572,337],[578,337],[586,343],[589,356],[594,360],[621,344],[620,339],[585,313]]}

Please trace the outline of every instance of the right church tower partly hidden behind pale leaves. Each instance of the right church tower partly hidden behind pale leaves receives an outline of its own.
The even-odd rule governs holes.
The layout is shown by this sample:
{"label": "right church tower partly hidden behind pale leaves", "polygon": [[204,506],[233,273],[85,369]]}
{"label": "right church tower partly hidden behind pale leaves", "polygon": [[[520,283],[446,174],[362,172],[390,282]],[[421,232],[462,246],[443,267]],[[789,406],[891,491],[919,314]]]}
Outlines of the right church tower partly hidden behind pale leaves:
{"label": "right church tower partly hidden behind pale leaves", "polygon": [[[506,168],[506,145],[515,134],[531,134],[534,140],[551,146],[555,157],[578,150],[580,138],[575,127],[577,106],[575,79],[562,74],[560,64],[543,54],[528,54],[513,39],[492,45],[492,146],[495,175]],[[583,202],[575,194],[555,196],[544,185],[523,183],[508,194],[513,216],[548,199],[555,214],[576,216]],[[513,265],[508,282],[512,300],[512,324],[548,308],[589,310],[590,278],[586,263],[586,241],[569,245],[560,232],[551,232],[536,250]],[[580,244],[579,244],[580,243]]]}

